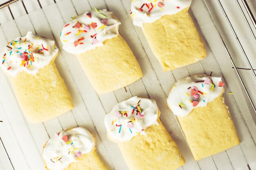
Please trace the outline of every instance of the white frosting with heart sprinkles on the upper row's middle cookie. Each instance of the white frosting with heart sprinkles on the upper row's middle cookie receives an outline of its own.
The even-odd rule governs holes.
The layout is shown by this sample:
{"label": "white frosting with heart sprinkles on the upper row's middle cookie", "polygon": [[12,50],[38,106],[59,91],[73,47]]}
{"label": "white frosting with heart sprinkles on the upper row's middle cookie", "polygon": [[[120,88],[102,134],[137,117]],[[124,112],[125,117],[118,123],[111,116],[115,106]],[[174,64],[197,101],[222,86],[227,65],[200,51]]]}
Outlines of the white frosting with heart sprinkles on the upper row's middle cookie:
{"label": "white frosting with heart sprinkles on the upper row's middle cookie", "polygon": [[61,31],[63,49],[81,54],[103,46],[105,40],[117,37],[120,24],[112,12],[94,8],[65,24]]}

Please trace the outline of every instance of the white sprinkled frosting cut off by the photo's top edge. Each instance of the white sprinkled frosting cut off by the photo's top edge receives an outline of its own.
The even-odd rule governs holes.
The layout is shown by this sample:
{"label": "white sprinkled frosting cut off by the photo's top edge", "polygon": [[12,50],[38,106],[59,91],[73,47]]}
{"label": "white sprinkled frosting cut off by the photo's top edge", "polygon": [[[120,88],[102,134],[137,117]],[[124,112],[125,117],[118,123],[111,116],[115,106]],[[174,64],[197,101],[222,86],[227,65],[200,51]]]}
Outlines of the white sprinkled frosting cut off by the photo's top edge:
{"label": "white sprinkled frosting cut off by the photo's top edge", "polygon": [[153,23],[164,15],[176,14],[190,4],[191,0],[133,0],[133,24],[143,28],[143,23]]}

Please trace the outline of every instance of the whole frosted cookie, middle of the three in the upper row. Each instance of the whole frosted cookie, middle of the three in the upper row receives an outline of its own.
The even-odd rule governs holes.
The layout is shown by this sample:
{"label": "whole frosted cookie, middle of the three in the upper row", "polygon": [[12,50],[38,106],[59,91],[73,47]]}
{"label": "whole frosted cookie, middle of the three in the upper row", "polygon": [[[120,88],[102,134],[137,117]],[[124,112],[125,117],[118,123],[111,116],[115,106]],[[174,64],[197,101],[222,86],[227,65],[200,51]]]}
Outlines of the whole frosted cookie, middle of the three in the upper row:
{"label": "whole frosted cookie, middle of the three in the upper row", "polygon": [[142,77],[140,66],[119,34],[121,23],[110,11],[94,8],[65,24],[63,49],[73,53],[97,93],[108,93]]}

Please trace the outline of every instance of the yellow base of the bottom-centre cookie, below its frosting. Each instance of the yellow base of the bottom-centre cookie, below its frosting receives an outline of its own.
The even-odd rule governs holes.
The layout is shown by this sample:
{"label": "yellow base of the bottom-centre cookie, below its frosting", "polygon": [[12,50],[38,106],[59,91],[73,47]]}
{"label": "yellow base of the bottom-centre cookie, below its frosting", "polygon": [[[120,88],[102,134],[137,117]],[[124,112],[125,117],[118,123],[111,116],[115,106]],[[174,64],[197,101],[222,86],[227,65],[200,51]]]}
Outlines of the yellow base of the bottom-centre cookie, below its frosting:
{"label": "yellow base of the bottom-centre cookie, below its frosting", "polygon": [[159,125],[145,129],[146,135],[118,142],[130,170],[175,170],[184,165],[185,160],[175,141],[160,119],[157,122]]}

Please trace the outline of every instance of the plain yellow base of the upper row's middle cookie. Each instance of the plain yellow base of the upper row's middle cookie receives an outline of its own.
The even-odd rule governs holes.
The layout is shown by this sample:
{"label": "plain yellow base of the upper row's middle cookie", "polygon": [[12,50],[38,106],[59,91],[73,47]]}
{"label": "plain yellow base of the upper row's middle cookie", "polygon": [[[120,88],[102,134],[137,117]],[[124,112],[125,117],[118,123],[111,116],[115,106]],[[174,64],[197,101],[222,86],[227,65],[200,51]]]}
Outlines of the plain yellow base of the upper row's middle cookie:
{"label": "plain yellow base of the upper row's middle cookie", "polygon": [[103,44],[83,54],[77,54],[97,93],[115,91],[142,77],[139,63],[121,35],[105,40]]}

